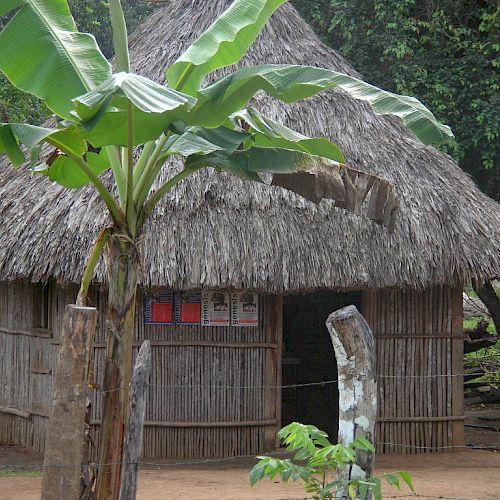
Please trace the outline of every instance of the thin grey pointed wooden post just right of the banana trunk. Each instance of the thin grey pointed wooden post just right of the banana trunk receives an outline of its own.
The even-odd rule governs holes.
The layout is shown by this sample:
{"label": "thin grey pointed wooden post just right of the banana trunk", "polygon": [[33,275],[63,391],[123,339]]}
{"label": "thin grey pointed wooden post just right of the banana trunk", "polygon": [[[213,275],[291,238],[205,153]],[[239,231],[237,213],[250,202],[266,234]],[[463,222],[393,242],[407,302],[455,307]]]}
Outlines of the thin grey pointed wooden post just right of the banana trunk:
{"label": "thin grey pointed wooden post just right of the banana trunk", "polygon": [[141,346],[132,375],[129,397],[129,420],[123,450],[120,500],[135,500],[139,457],[142,451],[142,431],[146,409],[146,391],[151,371],[151,345],[145,340]]}

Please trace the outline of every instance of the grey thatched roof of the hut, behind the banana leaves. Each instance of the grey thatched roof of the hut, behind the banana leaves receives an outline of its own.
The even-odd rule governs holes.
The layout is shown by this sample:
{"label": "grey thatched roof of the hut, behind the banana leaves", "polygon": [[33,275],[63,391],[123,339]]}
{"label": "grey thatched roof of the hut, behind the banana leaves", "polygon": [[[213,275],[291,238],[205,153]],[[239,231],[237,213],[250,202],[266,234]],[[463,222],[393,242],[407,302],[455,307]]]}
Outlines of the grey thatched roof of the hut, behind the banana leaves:
{"label": "grey thatched roof of the hut, behind the banana leaves", "polygon": [[[171,2],[131,39],[133,68],[159,82],[166,66],[227,6]],[[356,75],[290,6],[265,28],[245,63],[298,63]],[[146,287],[423,287],[500,275],[499,206],[447,155],[423,146],[396,119],[339,91],[296,105],[259,96],[255,106],[340,144],[349,163],[391,181],[401,200],[393,234],[278,187],[213,170],[184,181],[145,228]],[[166,167],[163,175],[170,175]],[[170,169],[170,170],[169,170]],[[0,279],[77,282],[108,219],[93,189],[64,190],[0,166]],[[99,271],[102,279],[102,268]]]}

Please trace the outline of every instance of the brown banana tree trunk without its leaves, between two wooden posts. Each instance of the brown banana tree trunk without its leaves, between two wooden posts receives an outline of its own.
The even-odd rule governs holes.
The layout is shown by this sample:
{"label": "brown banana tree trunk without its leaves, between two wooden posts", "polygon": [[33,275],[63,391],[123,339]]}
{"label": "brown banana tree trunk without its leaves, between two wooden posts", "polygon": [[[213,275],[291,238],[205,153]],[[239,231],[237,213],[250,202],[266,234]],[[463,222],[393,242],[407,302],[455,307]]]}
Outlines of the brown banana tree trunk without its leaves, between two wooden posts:
{"label": "brown banana tree trunk without its leaves, between two wooden posts", "polygon": [[107,348],[104,368],[97,500],[118,500],[132,377],[135,297],[139,254],[135,242],[114,232],[106,249],[108,268]]}

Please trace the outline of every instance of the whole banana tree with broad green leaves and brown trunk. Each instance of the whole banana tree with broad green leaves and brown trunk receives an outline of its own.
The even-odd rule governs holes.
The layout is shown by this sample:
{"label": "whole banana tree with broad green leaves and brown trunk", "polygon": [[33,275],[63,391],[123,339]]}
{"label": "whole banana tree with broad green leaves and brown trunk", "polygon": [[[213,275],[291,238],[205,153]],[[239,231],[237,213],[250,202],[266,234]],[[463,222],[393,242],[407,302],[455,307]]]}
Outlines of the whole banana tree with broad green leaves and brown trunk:
{"label": "whole banana tree with broad green leaves and brown trunk", "polygon": [[[387,195],[387,183],[350,169],[337,145],[305,137],[249,108],[255,93],[265,91],[290,103],[339,87],[376,113],[398,116],[424,143],[439,144],[452,135],[416,99],[326,68],[240,67],[204,85],[211,73],[242,59],[285,1],[235,0],[168,68],[164,84],[130,71],[120,0],[109,1],[115,70],[95,39],[77,31],[66,0],[0,4],[0,16],[11,16],[0,32],[0,71],[54,113],[44,126],[0,124],[0,154],[15,167],[28,163],[67,188],[92,184],[110,215],[110,226],[89,256],[78,299],[85,302],[104,252],[109,316],[99,463],[107,465],[99,472],[97,498],[116,498],[119,490],[139,279],[137,241],[162,197],[203,168],[250,182],[271,174],[274,184],[316,202],[333,198],[353,210],[376,186]],[[180,156],[184,168],[158,187],[172,156]],[[376,209],[371,216],[379,222],[390,218]]]}

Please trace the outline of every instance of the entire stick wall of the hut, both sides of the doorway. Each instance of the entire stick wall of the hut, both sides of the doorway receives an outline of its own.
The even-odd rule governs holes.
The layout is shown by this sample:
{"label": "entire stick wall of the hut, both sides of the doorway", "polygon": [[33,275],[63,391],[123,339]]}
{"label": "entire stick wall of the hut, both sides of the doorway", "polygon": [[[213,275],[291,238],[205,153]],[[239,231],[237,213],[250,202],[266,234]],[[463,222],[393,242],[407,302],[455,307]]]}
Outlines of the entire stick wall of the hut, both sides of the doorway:
{"label": "entire stick wall of the hut, both sides of the doorway", "polygon": [[[41,451],[64,307],[74,302],[76,290],[51,287],[45,313],[37,309],[37,291],[31,284],[0,283],[0,442]],[[99,383],[106,297],[94,290],[92,300],[99,308]],[[281,385],[282,300],[262,296],[260,311],[257,327],[144,325],[139,296],[136,351],[143,339],[151,340],[151,384],[156,386],[147,402],[146,459],[274,449],[281,391],[262,386]],[[460,290],[365,292],[362,312],[377,339],[379,375],[395,377],[379,382],[378,442],[393,443],[380,445],[380,451],[413,453],[425,451],[420,447],[462,445],[463,381],[442,376],[463,370]],[[35,325],[40,315],[48,316],[47,328]],[[96,393],[94,433],[99,404]]]}

